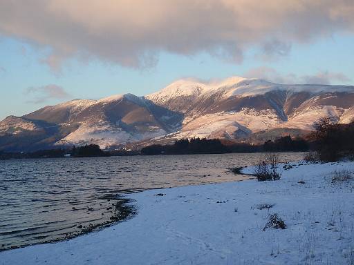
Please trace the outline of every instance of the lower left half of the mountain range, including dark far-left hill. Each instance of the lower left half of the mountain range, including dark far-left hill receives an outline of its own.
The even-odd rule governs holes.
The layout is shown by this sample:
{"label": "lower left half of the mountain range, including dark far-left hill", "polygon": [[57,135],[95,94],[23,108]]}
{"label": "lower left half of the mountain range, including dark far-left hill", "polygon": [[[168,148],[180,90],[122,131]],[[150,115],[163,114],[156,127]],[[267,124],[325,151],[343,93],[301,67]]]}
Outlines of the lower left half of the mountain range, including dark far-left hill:
{"label": "lower left half of the mountain range, including dark far-left hill", "polygon": [[131,94],[75,99],[0,121],[0,150],[65,144],[119,146],[175,132],[182,121],[183,115]]}

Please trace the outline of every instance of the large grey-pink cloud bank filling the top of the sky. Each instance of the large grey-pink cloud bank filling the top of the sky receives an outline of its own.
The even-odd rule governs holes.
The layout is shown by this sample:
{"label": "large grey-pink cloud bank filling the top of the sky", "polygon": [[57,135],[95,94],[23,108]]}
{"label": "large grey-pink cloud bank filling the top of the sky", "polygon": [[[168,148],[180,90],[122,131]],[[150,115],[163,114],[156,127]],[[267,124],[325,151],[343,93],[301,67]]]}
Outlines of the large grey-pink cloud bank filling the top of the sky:
{"label": "large grey-pink cloud bank filling the top of the sky", "polygon": [[71,57],[150,67],[161,51],[239,63],[251,47],[284,56],[292,42],[353,32],[353,13],[353,0],[0,0],[0,35],[50,50],[52,70]]}

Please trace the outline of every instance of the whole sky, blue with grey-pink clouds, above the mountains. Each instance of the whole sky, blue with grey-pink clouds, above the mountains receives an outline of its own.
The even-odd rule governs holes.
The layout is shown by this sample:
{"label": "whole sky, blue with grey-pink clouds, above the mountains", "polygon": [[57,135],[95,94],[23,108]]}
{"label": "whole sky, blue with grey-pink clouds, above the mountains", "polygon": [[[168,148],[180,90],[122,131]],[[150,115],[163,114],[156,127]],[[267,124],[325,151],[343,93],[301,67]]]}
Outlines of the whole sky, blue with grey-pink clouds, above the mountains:
{"label": "whole sky, blue with grey-pink clouds, above the mountains", "polygon": [[0,119],[177,79],[354,85],[353,0],[0,0]]}

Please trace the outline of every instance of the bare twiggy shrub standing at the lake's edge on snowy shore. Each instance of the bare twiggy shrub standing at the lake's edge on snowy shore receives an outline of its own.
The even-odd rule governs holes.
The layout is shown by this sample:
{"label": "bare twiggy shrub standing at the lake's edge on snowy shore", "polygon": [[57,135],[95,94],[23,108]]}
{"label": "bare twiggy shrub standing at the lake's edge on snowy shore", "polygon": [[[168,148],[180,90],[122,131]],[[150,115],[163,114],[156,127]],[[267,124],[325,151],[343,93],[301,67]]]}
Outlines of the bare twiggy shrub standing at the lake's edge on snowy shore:
{"label": "bare twiggy shrub standing at the lake's edge on snowy shore", "polygon": [[279,173],[279,155],[268,153],[263,158],[257,161],[253,175],[257,177],[258,181],[279,180],[281,174]]}

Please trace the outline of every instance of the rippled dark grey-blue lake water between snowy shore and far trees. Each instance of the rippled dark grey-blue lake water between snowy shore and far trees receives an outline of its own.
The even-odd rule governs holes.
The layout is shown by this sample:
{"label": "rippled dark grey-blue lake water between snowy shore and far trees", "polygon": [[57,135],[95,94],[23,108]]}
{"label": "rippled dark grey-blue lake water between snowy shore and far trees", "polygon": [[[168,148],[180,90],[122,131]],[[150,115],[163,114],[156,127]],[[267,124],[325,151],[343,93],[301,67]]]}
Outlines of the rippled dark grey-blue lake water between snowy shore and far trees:
{"label": "rippled dark grey-blue lake water between snowy shore and far trees", "polygon": [[[263,154],[169,155],[0,161],[0,251],[80,235],[119,221],[117,195],[247,178],[228,168]],[[302,153],[281,153],[298,161]],[[127,195],[129,197],[129,195]]]}

